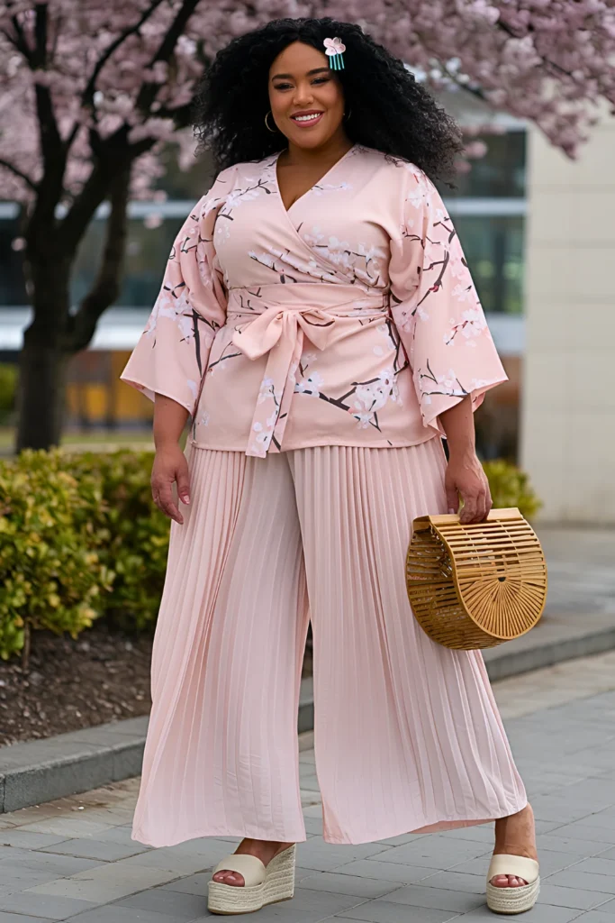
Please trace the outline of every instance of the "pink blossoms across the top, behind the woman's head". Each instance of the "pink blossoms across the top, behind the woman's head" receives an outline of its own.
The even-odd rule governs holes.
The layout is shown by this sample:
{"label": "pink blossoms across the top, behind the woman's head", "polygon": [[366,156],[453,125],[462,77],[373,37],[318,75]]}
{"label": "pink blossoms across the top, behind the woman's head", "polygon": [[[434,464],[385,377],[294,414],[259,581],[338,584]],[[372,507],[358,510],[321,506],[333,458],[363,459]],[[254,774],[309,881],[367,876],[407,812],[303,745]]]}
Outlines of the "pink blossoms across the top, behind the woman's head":
{"label": "pink blossoms across the top, behind the woman's head", "polygon": [[[535,122],[569,156],[603,103],[615,106],[613,0],[201,0],[161,60],[164,36],[182,6],[183,0],[0,0],[0,160],[14,167],[0,166],[2,198],[29,202],[41,179],[37,88],[47,92],[60,136],[70,143],[63,198],[74,198],[87,182],[91,145],[123,126],[129,145],[143,150],[151,141],[135,162],[131,188],[134,198],[148,198],[162,169],[162,143],[177,144],[182,167],[194,163],[190,129],[174,130],[173,113],[193,99],[203,60],[272,18],[358,22],[432,88],[479,93],[495,108]],[[47,40],[37,49],[43,8]],[[325,50],[333,52],[333,45]],[[137,107],[144,85],[148,105]],[[482,133],[476,126],[468,132]],[[479,149],[472,150],[476,156]]]}

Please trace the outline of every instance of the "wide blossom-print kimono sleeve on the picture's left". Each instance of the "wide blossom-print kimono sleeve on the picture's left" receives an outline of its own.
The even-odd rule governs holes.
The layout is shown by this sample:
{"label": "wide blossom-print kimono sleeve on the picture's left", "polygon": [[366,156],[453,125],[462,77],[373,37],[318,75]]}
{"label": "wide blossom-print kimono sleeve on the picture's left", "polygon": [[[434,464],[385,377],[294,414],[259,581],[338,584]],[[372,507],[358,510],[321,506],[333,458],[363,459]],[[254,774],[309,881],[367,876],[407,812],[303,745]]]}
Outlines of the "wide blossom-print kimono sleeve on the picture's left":
{"label": "wide blossom-print kimono sleeve on the picture's left", "polygon": [[195,413],[209,350],[226,319],[226,290],[213,244],[214,223],[231,191],[219,174],[175,237],[160,293],[120,378],[150,400],[164,394]]}

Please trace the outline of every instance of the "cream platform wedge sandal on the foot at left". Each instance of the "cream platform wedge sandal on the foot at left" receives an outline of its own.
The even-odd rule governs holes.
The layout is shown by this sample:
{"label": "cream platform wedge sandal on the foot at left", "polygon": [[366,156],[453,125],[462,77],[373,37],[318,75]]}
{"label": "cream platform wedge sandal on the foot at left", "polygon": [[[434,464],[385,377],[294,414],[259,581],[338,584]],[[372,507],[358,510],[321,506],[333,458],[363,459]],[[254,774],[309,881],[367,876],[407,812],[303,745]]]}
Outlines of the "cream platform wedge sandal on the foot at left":
{"label": "cream platform wedge sandal on the foot at left", "polygon": [[295,893],[295,844],[266,865],[255,856],[233,853],[219,861],[212,875],[228,869],[239,872],[245,884],[209,881],[207,910],[212,914],[252,914],[267,904],[289,901]]}

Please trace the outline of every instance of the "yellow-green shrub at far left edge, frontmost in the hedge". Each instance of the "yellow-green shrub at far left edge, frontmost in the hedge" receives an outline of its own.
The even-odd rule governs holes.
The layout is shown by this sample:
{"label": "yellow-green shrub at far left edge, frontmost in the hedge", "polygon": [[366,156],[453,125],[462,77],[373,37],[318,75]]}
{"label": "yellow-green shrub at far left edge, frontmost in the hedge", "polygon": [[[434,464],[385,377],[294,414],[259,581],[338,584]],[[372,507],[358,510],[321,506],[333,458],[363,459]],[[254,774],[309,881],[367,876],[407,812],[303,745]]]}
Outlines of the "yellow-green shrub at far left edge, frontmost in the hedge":
{"label": "yellow-green shrub at far left edge, frontmost in the hedge", "polygon": [[73,638],[104,610],[112,570],[96,546],[89,502],[59,452],[25,451],[0,463],[0,657],[30,629]]}

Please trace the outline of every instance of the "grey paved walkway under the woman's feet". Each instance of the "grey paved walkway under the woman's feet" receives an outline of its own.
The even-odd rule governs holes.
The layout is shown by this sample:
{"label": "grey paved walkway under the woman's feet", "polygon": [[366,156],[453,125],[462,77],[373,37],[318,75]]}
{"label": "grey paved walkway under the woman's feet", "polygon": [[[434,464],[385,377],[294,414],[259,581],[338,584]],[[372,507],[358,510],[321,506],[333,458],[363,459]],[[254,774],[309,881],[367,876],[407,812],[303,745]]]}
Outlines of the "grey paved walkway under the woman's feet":
{"label": "grey paved walkway under the woman's feet", "polygon": [[[542,890],[524,923],[615,923],[615,653],[493,684],[538,827]],[[540,708],[537,710],[537,705]],[[308,840],[292,901],[258,923],[477,923],[492,824],[328,845],[309,736],[302,736]],[[0,923],[189,923],[236,839],[150,849],[130,839],[138,779],[0,818]]]}

